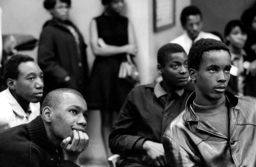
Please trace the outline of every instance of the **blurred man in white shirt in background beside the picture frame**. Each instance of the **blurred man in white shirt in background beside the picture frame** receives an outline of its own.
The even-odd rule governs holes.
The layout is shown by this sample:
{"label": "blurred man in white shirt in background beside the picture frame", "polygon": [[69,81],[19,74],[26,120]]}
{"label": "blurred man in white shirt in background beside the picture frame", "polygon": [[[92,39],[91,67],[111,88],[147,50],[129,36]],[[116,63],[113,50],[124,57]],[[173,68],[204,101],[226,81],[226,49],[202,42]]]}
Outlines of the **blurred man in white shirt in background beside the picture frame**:
{"label": "blurred man in white shirt in background beside the picture frame", "polygon": [[188,54],[193,42],[201,38],[212,38],[221,40],[218,36],[201,31],[203,27],[203,16],[196,6],[188,6],[181,12],[180,21],[185,33],[170,41],[180,44]]}

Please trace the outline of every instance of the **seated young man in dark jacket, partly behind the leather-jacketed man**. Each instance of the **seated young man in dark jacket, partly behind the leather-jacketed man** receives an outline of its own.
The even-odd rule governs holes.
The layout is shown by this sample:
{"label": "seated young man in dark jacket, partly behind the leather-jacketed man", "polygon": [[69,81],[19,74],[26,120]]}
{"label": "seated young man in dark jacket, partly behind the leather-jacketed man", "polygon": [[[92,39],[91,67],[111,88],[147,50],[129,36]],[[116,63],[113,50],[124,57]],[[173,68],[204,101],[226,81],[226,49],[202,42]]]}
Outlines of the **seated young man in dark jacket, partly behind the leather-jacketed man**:
{"label": "seated young man in dark jacket, partly behind the leather-jacketed man", "polygon": [[193,92],[188,82],[187,55],[176,43],[157,54],[163,81],[135,87],[127,97],[109,137],[112,153],[124,157],[121,166],[166,166],[162,136],[167,125],[185,109]]}

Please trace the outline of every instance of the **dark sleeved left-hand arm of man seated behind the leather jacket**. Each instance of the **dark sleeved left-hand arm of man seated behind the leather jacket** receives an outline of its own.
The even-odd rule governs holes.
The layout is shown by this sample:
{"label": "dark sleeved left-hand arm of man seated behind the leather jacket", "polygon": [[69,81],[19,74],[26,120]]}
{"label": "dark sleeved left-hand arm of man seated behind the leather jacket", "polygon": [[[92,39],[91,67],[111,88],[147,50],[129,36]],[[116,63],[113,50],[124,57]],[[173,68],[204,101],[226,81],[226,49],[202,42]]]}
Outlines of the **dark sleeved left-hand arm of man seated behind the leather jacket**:
{"label": "dark sleeved left-hand arm of man seated behind the leather jacket", "polygon": [[[109,137],[109,147],[114,154],[136,156],[146,154],[142,149],[143,136],[137,135],[138,111],[135,106],[134,89],[127,96],[117,122]],[[135,144],[140,146],[135,147]]]}

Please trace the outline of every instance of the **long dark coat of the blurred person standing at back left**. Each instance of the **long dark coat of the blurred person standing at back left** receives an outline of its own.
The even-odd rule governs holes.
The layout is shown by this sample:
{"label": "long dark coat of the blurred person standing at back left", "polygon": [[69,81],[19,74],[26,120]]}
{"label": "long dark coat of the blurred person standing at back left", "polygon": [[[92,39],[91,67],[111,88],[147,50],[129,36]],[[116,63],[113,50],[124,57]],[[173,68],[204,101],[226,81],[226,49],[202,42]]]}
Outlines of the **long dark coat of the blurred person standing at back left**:
{"label": "long dark coat of the blurred person standing at back left", "polygon": [[[45,23],[38,47],[38,64],[44,71],[44,94],[61,87],[73,88],[84,94],[84,86],[88,83],[87,46],[73,23],[65,23],[76,30],[79,49],[63,23],[55,19]],[[64,81],[66,76],[71,77],[69,82]]]}

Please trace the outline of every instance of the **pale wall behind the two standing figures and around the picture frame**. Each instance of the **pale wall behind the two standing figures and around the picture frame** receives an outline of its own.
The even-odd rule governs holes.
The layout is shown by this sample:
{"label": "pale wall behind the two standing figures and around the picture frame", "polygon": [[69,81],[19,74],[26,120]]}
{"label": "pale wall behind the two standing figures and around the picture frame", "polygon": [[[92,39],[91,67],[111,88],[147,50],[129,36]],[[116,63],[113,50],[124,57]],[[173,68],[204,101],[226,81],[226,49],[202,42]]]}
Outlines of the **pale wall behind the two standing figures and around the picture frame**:
{"label": "pale wall behind the two standing figures and around the picture frame", "polygon": [[[42,7],[42,0],[1,0],[3,9],[3,34],[22,33],[31,34],[39,38],[42,25],[51,18]],[[139,66],[142,84],[150,83],[157,74],[157,51],[160,46],[182,33],[180,26],[180,12],[183,7],[190,4],[190,0],[176,0],[176,25],[167,30],[153,32],[153,0],[126,0],[124,15],[130,18],[136,30],[138,42]],[[90,21],[101,14],[103,7],[100,0],[73,0],[70,13],[71,20],[81,31],[88,47],[88,61],[92,67],[94,55],[91,51]],[[37,57],[37,48],[30,52],[22,52]]]}

